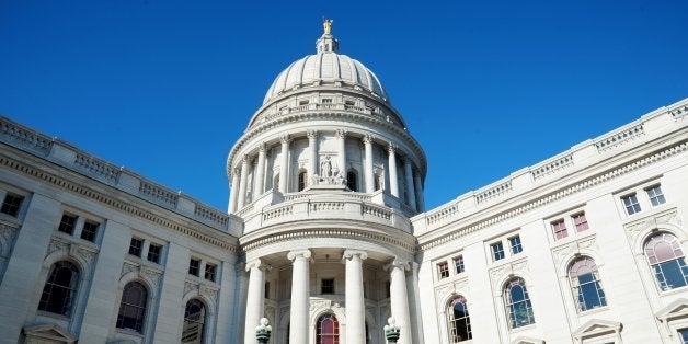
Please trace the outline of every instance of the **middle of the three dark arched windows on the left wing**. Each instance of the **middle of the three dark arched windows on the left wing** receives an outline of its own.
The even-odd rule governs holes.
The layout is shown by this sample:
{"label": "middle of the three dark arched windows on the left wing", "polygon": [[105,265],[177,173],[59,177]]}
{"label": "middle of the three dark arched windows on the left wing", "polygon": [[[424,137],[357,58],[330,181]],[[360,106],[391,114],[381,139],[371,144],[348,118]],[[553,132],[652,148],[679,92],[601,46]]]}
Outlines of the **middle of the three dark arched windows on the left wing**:
{"label": "middle of the three dark arched windows on the left wing", "polygon": [[148,290],[138,282],[130,282],[124,286],[117,328],[144,332],[144,319],[146,318],[146,303]]}

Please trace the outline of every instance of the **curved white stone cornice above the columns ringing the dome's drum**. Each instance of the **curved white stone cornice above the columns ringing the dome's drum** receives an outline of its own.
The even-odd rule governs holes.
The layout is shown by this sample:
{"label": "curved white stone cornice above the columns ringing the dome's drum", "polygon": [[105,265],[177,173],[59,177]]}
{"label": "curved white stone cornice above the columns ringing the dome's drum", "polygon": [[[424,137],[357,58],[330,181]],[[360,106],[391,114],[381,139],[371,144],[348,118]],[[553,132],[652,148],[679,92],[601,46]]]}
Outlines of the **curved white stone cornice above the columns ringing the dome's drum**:
{"label": "curved white stone cornice above the columns ringing the dome's drum", "polygon": [[418,167],[422,167],[421,169],[422,174],[426,175],[427,159],[426,159],[425,152],[421,148],[421,145],[411,136],[411,134],[409,134],[409,131],[402,128],[399,128],[395,125],[392,125],[390,123],[380,121],[378,118],[375,118],[368,115],[363,115],[363,114],[346,112],[346,111],[328,111],[328,110],[313,110],[313,111],[305,111],[305,112],[299,112],[299,113],[286,114],[283,116],[278,116],[274,119],[271,119],[266,123],[263,123],[259,126],[255,126],[254,128],[249,129],[237,140],[237,144],[234,144],[231,151],[229,152],[229,156],[227,158],[227,167],[226,167],[227,175],[231,175],[230,173],[231,165],[237,153],[243,148],[244,145],[246,145],[250,140],[252,140],[257,135],[278,128],[286,124],[310,122],[310,121],[318,121],[318,119],[325,119],[325,121],[326,119],[336,119],[336,121],[353,119],[352,122],[358,123],[364,126],[366,126],[366,124],[377,125],[379,127],[382,127],[389,130],[391,134],[397,135],[398,137],[409,142],[410,148],[413,150],[412,153],[418,158],[417,164]]}

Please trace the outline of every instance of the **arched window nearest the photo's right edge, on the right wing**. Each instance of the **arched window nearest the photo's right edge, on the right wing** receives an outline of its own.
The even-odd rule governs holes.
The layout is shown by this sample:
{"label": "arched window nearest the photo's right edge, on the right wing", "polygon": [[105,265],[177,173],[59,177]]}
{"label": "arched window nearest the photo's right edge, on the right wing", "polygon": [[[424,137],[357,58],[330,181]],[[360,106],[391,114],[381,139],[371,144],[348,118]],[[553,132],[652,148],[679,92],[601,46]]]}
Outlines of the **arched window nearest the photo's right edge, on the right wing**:
{"label": "arched window nearest the photo's right edge, on the right wing", "polygon": [[688,284],[688,267],[680,242],[669,233],[658,233],[645,242],[645,255],[662,290]]}

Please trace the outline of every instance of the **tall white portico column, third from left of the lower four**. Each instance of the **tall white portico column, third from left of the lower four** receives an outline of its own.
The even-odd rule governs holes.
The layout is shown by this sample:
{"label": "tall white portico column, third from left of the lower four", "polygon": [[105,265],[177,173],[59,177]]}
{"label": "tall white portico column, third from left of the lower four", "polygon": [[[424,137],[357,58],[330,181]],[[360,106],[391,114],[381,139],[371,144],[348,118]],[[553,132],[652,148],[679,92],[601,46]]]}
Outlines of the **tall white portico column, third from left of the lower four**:
{"label": "tall white portico column, third from left of the lower four", "polygon": [[363,261],[368,257],[364,251],[346,250],[342,260],[346,263],[346,341],[366,342],[366,313],[363,293]]}

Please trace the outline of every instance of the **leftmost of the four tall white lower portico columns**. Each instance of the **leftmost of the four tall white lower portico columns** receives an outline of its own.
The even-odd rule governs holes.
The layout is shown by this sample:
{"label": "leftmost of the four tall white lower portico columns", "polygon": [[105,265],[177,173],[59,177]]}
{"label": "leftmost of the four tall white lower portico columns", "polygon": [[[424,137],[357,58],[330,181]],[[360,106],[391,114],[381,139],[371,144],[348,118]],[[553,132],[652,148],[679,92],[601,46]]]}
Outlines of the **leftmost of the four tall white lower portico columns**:
{"label": "leftmost of the four tall white lower portico columns", "polygon": [[244,344],[254,344],[255,326],[263,318],[265,309],[265,271],[270,268],[261,260],[246,263],[249,272],[249,295],[246,296],[246,318],[243,331]]}

